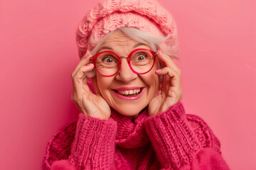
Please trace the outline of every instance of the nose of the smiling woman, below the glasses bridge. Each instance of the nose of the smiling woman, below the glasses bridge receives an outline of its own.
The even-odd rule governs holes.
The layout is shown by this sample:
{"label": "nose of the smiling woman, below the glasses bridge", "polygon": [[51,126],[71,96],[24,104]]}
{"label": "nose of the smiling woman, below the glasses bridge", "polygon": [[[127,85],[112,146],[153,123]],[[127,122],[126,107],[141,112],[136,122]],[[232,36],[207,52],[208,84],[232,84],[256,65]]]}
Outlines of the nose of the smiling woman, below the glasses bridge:
{"label": "nose of the smiling woman, below the glasses bridge", "polygon": [[115,79],[123,81],[124,83],[128,84],[134,79],[137,79],[138,74],[132,72],[132,69],[130,69],[129,64],[127,62],[127,58],[122,58],[121,60],[121,67],[119,69],[119,72],[117,72]]}

